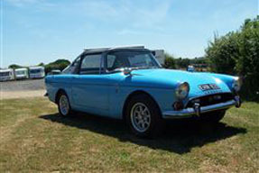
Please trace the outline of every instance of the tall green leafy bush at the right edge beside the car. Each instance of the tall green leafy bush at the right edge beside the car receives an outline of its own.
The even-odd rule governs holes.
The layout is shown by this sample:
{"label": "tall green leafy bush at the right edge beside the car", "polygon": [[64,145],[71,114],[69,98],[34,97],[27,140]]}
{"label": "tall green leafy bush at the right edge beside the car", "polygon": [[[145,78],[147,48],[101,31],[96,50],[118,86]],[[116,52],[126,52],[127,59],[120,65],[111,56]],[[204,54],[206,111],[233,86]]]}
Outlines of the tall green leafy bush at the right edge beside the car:
{"label": "tall green leafy bush at the right edge beside the car", "polygon": [[245,78],[243,95],[258,99],[259,88],[259,16],[246,19],[236,32],[215,36],[206,50],[211,69],[218,73]]}

